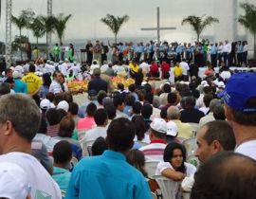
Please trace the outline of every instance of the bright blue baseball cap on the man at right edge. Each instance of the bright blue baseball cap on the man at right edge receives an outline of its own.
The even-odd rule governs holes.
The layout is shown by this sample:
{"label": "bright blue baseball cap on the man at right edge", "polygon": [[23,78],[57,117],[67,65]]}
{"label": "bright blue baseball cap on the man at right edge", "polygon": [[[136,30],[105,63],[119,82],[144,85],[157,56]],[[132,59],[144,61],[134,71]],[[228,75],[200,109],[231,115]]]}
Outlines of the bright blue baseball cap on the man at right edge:
{"label": "bright blue baseball cap on the man at right edge", "polygon": [[235,111],[256,113],[255,106],[247,106],[247,100],[256,98],[256,74],[251,72],[237,73],[231,76],[223,99]]}

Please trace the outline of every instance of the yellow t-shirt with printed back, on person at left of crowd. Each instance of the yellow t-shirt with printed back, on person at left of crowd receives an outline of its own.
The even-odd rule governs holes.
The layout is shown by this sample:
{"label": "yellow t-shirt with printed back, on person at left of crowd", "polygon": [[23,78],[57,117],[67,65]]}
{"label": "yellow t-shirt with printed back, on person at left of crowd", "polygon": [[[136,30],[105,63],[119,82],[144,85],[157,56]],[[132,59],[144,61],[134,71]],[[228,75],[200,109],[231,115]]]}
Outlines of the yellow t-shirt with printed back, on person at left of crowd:
{"label": "yellow t-shirt with printed back, on person at left of crowd", "polygon": [[40,77],[34,73],[29,72],[26,76],[22,78],[22,81],[27,83],[27,92],[28,94],[34,93],[42,85],[42,80]]}

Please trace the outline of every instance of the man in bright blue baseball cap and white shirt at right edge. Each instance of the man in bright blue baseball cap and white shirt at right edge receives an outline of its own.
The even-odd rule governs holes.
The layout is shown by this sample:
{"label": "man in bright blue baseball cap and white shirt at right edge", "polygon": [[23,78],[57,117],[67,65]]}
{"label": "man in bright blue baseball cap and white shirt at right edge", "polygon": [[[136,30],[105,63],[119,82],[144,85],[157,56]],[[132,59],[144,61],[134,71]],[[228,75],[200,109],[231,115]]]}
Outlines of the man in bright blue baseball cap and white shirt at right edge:
{"label": "man in bright blue baseball cap and white shirt at right edge", "polygon": [[256,159],[256,74],[233,75],[224,92],[225,115],[233,128],[235,152]]}

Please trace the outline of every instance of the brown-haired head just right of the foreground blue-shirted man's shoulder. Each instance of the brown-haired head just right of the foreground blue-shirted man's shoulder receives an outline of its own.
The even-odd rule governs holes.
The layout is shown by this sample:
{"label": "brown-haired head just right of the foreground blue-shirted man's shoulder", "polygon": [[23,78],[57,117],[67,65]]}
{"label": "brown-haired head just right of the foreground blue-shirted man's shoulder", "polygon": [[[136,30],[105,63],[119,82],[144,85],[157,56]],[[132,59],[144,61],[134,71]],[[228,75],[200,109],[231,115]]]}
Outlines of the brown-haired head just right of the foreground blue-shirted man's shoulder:
{"label": "brown-haired head just right of the foreground blue-shirted man's shoulder", "polygon": [[145,156],[143,152],[137,149],[130,150],[129,153],[126,154],[126,160],[130,165],[141,172],[144,177],[148,177],[148,173],[145,171]]}

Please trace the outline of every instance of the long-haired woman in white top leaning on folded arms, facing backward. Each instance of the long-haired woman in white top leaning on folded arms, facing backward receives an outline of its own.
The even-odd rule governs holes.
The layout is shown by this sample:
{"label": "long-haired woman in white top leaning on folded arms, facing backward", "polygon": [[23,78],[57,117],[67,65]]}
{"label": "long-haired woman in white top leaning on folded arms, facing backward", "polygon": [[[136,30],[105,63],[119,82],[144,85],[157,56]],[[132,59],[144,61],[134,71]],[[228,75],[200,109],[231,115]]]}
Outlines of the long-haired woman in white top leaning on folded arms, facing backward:
{"label": "long-haired woman in white top leaning on folded arms, facing backward", "polygon": [[181,181],[196,172],[196,168],[185,162],[186,152],[181,144],[171,142],[164,150],[164,161],[158,163],[155,174],[163,175],[174,181]]}

